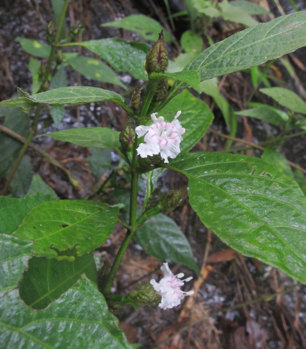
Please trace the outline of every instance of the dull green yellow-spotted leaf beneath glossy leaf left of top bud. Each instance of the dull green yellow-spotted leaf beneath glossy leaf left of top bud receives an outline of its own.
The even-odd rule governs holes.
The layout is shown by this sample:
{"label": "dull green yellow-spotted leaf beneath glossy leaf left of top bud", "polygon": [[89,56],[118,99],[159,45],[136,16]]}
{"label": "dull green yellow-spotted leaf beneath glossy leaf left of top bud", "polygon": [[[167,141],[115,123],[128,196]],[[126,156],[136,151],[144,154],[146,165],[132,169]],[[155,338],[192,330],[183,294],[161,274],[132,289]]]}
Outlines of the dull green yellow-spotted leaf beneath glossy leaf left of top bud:
{"label": "dull green yellow-spotted leaf beneath glossy leaf left of top bud", "polygon": [[79,56],[71,59],[69,63],[72,68],[82,75],[88,76],[90,79],[115,84],[126,90],[126,87],[118,79],[116,73],[98,59]]}

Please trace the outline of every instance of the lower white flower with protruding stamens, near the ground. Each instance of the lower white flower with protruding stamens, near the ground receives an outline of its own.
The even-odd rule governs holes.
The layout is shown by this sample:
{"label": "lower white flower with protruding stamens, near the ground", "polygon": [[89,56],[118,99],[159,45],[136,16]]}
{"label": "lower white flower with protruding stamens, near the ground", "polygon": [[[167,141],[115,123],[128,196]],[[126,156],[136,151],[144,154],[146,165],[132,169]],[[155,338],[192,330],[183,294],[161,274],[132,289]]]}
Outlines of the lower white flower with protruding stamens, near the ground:
{"label": "lower white flower with protruding stamens, near the ground", "polygon": [[161,309],[173,308],[180,304],[185,296],[191,296],[194,293],[194,291],[181,291],[181,286],[183,286],[184,281],[190,281],[192,276],[181,280],[184,274],[179,273],[173,275],[168,267],[168,263],[163,263],[160,270],[163,272],[164,277],[158,283],[152,279],[150,284],[154,287],[154,290],[161,295],[161,303],[159,304]]}

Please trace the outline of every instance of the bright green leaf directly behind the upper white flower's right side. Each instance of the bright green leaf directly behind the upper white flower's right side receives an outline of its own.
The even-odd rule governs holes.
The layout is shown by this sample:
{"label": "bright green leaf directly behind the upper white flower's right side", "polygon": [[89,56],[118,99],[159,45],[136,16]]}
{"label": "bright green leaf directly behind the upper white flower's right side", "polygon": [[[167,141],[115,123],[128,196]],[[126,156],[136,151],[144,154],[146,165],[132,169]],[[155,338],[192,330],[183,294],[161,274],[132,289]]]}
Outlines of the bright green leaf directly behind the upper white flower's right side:
{"label": "bright green leaf directly behind the upper white flower's right side", "polygon": [[182,111],[179,120],[186,129],[180,149],[182,152],[187,152],[204,136],[213,120],[213,114],[207,104],[187,90],[175,96],[159,115],[165,117],[167,121],[172,121],[178,110]]}

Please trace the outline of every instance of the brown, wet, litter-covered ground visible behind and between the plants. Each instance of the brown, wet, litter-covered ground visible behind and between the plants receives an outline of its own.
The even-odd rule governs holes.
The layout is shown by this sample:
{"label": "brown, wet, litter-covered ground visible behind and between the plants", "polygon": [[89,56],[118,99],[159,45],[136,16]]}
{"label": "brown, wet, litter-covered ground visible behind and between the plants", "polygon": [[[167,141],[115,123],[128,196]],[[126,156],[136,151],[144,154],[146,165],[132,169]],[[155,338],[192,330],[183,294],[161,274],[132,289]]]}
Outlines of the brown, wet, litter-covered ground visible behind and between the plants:
{"label": "brown, wet, litter-covered ground visible behind and between the plants", "polygon": [[[174,12],[181,10],[181,2],[179,1],[176,8],[172,9]],[[69,25],[76,19],[82,18],[86,28],[83,32],[83,40],[111,36],[140,40],[137,36],[132,38],[127,31],[101,28],[100,24],[130,14],[144,13],[158,19],[163,25],[168,25],[165,19],[167,17],[165,9],[160,7],[161,3],[150,0],[142,2],[129,0],[71,1],[67,23]],[[176,2],[173,1],[173,3]],[[271,9],[275,10],[275,14],[279,15],[271,2],[269,5]],[[281,6],[286,13],[291,11],[289,1],[281,2]],[[27,68],[29,55],[22,51],[16,37],[44,39],[44,28],[50,21],[52,13],[47,0],[16,0],[14,8],[10,7],[11,3],[6,0],[0,5],[0,49],[1,57],[3,57],[0,62],[0,99],[11,97],[16,92],[17,86],[24,90],[29,89],[31,85],[31,74]],[[179,39],[182,31],[188,29],[188,22],[176,22],[176,29],[174,35]],[[217,31],[215,28],[210,28],[210,30],[216,40],[229,35],[226,32],[226,26]],[[168,47],[168,50],[170,56],[175,57],[176,47]],[[297,57],[302,57],[303,54],[305,50],[296,53]],[[306,79],[303,79],[305,72],[300,70],[298,72],[305,88]],[[282,72],[282,74],[282,79],[288,81],[286,73]],[[69,72],[69,75],[71,82],[80,79],[72,71]],[[126,79],[126,75],[121,76]],[[246,73],[238,72],[228,76],[223,83],[221,91],[236,110],[240,108],[239,101],[244,101],[251,91],[246,78]],[[135,86],[136,81],[130,80],[131,86]],[[110,87],[85,78],[81,78],[81,83],[109,88],[118,93],[123,92],[119,87]],[[290,80],[289,87],[297,90],[296,83],[292,80]],[[212,104],[209,97],[203,96],[203,99],[209,105]],[[214,113],[216,115],[214,129],[226,133],[220,113],[217,109],[214,109]],[[47,118],[45,111],[41,119],[43,121]],[[120,130],[125,120],[125,112],[108,102],[67,110],[60,128],[111,126]],[[265,140],[267,134],[273,132],[273,129],[267,129],[261,123],[248,121],[246,125],[241,119],[238,136],[246,137],[247,126],[252,131],[248,135],[250,138],[247,139],[253,142]],[[49,129],[54,130],[52,126],[47,128],[47,131]],[[287,158],[304,168],[306,167],[303,149],[305,141],[305,137],[301,137],[299,141],[294,140],[292,143],[287,143],[285,147]],[[34,150],[30,150],[29,155],[35,171],[39,172],[46,183],[54,188],[60,198],[80,199],[93,194],[95,180],[86,162],[86,157],[90,155],[89,150],[46,138],[36,142],[68,168],[81,183],[82,190],[76,191],[61,170],[54,168]],[[223,147],[223,138],[208,133],[205,139],[197,144],[196,149],[214,151],[222,150]],[[256,151],[254,154],[256,155]],[[117,180],[124,181],[119,175],[120,173],[118,173]],[[103,176],[100,179],[101,183],[103,178],[105,179]],[[162,178],[161,184],[172,189],[185,185],[186,181],[184,177],[177,174],[174,177],[173,173],[167,173]],[[172,217],[189,238],[204,280],[197,280],[194,275],[195,294],[181,307],[167,311],[159,308],[140,308],[137,311],[127,310],[126,313],[121,314],[119,316],[121,327],[132,342],[143,343],[143,348],[306,348],[305,286],[297,285],[277,269],[267,267],[255,259],[242,257],[228,249],[213,233],[203,227],[188,205],[186,198],[182,205],[172,213]],[[118,225],[107,243],[97,251],[102,262],[112,262],[124,234],[125,230]],[[141,251],[138,245],[132,243],[125,255],[114,290],[123,294],[129,287],[135,287],[137,283],[148,282],[152,278],[152,273],[156,273],[156,270],[159,269],[160,264],[159,261],[148,257]],[[190,275],[189,269],[174,267],[174,273],[181,271]],[[133,283],[135,281],[136,283]],[[281,293],[283,291],[284,293]],[[277,297],[270,297],[276,292],[280,292]],[[159,344],[161,342],[163,343]]]}

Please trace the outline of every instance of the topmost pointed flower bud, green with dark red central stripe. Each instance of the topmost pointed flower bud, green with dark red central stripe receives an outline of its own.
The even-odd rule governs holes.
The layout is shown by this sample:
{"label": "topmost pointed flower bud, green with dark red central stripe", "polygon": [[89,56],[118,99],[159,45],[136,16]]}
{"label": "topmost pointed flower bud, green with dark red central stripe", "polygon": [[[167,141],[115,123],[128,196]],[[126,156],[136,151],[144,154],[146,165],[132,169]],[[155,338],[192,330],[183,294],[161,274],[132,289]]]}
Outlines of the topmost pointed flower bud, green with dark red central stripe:
{"label": "topmost pointed flower bud, green with dark red central stripe", "polygon": [[168,51],[161,31],[158,40],[147,53],[145,68],[148,75],[151,73],[165,73],[168,59]]}

